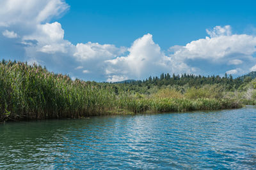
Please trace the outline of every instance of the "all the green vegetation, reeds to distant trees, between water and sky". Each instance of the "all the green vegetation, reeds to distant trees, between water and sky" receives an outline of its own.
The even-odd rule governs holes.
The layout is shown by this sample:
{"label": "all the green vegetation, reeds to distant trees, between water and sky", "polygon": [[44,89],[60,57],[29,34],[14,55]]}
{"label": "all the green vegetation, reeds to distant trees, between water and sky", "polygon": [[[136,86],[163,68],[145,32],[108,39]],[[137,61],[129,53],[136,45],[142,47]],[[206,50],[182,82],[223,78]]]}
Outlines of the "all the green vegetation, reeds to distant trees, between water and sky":
{"label": "all the green vegetation, reeds to distant trees, between water and sky", "polygon": [[0,122],[241,108],[256,103],[256,72],[161,74],[116,83],[71,80],[26,62],[0,64]]}

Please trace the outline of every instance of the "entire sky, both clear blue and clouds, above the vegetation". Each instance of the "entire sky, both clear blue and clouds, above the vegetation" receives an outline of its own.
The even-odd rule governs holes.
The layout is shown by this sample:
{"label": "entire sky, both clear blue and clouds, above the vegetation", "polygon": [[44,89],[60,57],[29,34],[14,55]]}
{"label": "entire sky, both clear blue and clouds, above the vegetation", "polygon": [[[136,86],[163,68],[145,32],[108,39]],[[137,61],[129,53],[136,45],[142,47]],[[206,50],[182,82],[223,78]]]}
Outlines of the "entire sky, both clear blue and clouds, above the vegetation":
{"label": "entire sky, both clear blue and clouds, above the vegetation", "polygon": [[0,57],[90,81],[256,71],[256,1],[1,0]]}

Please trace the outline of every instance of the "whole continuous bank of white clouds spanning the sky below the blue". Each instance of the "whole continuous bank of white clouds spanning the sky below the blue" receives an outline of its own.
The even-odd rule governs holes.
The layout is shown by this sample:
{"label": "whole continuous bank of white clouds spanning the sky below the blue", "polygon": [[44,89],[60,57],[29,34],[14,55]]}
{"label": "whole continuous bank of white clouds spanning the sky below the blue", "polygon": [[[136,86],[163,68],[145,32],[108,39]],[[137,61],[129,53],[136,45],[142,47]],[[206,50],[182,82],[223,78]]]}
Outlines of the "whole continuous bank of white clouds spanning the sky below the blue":
{"label": "whole continuous bank of white clouds spanning the sky below the blue", "polygon": [[256,37],[232,34],[230,25],[206,29],[209,36],[168,50],[162,50],[152,34],[141,35],[130,47],[90,41],[73,45],[65,39],[61,23],[52,22],[68,10],[65,1],[8,0],[0,1],[0,6],[0,36],[8,38],[6,48],[20,45],[23,60],[72,78],[114,82],[161,73],[239,75],[256,71]]}

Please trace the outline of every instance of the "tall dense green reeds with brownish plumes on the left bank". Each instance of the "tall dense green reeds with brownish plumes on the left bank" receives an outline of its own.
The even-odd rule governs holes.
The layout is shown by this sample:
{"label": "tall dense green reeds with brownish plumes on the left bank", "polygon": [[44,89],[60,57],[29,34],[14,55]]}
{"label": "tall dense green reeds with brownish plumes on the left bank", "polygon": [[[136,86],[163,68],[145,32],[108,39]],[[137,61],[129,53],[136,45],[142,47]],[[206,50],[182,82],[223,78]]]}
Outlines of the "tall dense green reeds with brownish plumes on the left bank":
{"label": "tall dense green reeds with brownish plumes on the left bank", "polygon": [[8,118],[76,118],[115,110],[115,89],[72,81],[41,66],[22,62],[0,64],[0,120]]}

